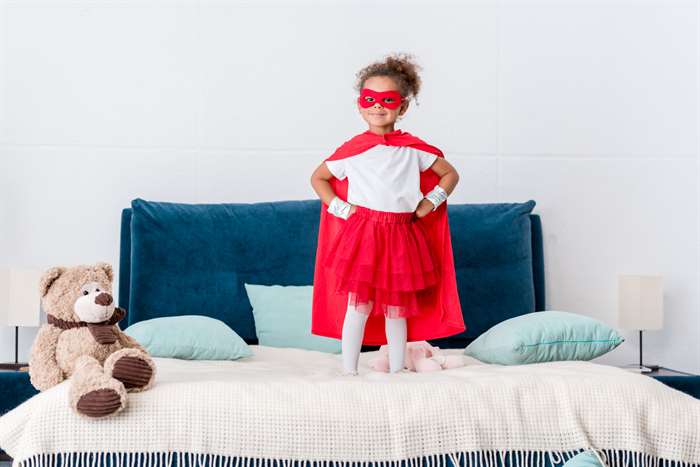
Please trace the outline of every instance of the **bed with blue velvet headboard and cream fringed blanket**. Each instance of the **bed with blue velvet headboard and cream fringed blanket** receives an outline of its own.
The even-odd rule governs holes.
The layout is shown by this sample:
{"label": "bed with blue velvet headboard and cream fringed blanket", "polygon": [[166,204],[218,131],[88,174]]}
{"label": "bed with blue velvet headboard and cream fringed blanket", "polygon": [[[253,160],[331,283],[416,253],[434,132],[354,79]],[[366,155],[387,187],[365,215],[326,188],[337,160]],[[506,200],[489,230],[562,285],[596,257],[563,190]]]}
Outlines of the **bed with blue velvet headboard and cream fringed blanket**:
{"label": "bed with blue velvet headboard and cream fringed blanket", "polygon": [[[534,201],[450,205],[467,323],[433,341],[461,355],[490,326],[545,309]],[[120,305],[129,323],[204,314],[253,349],[246,360],[156,359],[149,391],[118,416],[84,419],[65,383],[0,418],[14,462],[125,466],[560,466],[596,449],[610,466],[700,465],[700,401],[595,362],[466,365],[338,376],[339,355],[259,345],[242,286],[313,281],[317,200],[122,213]]]}

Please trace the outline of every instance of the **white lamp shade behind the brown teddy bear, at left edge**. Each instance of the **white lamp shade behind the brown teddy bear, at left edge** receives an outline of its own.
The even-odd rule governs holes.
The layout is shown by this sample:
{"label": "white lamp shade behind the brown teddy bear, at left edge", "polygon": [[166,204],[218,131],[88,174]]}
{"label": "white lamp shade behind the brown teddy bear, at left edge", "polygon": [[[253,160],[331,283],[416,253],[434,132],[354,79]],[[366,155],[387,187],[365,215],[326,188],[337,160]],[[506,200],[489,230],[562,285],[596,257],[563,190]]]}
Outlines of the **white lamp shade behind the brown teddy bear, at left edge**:
{"label": "white lamp shade behind the brown teddy bear, at left edge", "polygon": [[7,326],[40,325],[39,280],[42,271],[0,269],[0,317]]}

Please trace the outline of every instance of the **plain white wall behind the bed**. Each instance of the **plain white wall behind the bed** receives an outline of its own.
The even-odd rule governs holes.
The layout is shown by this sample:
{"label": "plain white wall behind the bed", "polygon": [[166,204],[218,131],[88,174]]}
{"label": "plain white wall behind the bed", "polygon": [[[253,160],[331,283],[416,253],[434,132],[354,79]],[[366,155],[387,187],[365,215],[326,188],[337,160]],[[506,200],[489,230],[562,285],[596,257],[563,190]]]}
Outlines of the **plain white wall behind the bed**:
{"label": "plain white wall behind the bed", "polygon": [[[646,360],[700,372],[694,2],[291,5],[6,1],[2,263],[116,265],[134,197],[313,198],[365,129],[355,72],[410,51],[424,89],[399,127],[458,168],[453,202],[537,201],[548,309],[616,325],[616,275],[663,274]],[[602,362],[635,362],[624,333]]]}

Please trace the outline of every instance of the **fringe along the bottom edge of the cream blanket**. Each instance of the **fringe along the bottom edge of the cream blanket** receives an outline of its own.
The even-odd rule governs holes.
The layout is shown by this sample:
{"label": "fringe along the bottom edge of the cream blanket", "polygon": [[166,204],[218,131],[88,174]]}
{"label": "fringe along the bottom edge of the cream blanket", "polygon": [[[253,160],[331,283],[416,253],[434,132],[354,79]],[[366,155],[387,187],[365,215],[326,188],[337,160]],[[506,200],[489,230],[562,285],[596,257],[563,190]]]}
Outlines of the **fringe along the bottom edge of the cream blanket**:
{"label": "fringe along the bottom edge of the cream blanket", "polygon": [[294,460],[251,458],[193,452],[61,452],[37,454],[13,467],[561,467],[590,450],[603,467],[700,467],[690,462],[636,451],[576,449],[570,451],[479,450],[383,461]]}

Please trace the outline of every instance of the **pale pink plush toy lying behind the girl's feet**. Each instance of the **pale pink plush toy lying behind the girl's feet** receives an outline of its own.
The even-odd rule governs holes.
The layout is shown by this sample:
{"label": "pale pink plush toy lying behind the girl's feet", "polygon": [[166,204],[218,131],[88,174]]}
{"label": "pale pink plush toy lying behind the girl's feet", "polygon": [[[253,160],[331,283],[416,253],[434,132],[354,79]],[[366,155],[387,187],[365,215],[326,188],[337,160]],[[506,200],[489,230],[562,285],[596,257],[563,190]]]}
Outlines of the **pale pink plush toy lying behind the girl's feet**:
{"label": "pale pink plush toy lying behind the girl's feet", "polygon": [[[464,366],[461,355],[443,355],[439,347],[434,347],[426,341],[408,342],[406,344],[404,366],[410,371],[437,371]],[[370,360],[370,368],[374,371],[389,371],[389,347],[379,347],[379,354]]]}

